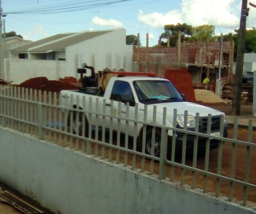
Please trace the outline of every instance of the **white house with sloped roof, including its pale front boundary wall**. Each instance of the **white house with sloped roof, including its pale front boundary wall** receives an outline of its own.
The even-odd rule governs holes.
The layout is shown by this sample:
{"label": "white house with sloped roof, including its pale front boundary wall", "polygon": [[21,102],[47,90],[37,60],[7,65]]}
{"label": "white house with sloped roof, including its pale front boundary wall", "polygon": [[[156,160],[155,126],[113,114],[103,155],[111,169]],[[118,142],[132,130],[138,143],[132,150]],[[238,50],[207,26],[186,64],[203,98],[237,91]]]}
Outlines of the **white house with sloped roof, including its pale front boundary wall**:
{"label": "white house with sloped roof, including its pale front boundary wall", "polygon": [[19,84],[32,77],[51,80],[74,76],[86,62],[95,71],[105,67],[131,71],[133,46],[126,45],[125,29],[61,33],[9,50],[5,78]]}

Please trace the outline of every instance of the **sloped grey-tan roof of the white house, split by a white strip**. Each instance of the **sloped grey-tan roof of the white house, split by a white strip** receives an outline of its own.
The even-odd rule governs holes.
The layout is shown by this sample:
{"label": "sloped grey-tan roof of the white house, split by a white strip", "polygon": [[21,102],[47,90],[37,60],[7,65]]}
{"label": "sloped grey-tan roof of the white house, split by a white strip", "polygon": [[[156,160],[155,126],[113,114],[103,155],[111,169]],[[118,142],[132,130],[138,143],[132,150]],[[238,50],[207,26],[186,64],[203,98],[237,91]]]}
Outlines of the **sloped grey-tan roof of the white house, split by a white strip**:
{"label": "sloped grey-tan roof of the white house, split by a white strip", "polygon": [[99,35],[109,33],[113,30],[95,30],[84,31],[78,33],[57,34],[52,37],[41,39],[17,48],[10,49],[12,52],[37,52],[47,53],[51,51],[65,50],[66,47],[71,46],[87,39],[97,37]]}

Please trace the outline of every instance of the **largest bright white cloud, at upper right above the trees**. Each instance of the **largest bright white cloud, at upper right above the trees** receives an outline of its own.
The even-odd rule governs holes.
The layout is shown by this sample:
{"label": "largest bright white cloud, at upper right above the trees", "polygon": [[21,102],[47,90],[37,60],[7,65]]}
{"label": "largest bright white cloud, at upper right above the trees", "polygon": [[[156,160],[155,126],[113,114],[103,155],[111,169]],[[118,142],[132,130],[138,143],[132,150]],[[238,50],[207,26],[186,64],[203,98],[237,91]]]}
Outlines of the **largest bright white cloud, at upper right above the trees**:
{"label": "largest bright white cloud, at upper right above the trees", "polygon": [[165,24],[187,23],[192,26],[213,24],[217,28],[216,20],[220,28],[233,28],[239,26],[238,0],[232,0],[232,14],[230,1],[225,0],[182,0],[180,10],[170,10],[168,13],[153,12],[143,14],[139,10],[138,19],[153,28],[163,28]]}

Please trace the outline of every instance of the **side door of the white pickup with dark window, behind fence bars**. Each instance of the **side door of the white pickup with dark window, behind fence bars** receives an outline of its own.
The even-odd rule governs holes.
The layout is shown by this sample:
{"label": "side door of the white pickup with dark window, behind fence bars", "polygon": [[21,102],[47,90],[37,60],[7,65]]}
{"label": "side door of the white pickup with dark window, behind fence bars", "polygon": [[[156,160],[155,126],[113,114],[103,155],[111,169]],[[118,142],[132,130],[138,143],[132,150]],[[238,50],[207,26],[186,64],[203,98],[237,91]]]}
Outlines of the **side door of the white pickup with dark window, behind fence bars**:
{"label": "side door of the white pickup with dark window, behind fence bars", "polygon": [[[129,82],[126,81],[120,81],[117,80],[114,82],[113,89],[111,92],[110,99],[107,102],[107,107],[110,108],[110,102],[113,100],[113,111],[111,112],[112,115],[118,115],[118,101],[120,101],[121,96],[127,96],[130,102],[130,108],[129,108],[129,118],[134,118],[135,114],[135,100],[134,100],[134,94],[131,89],[131,86]],[[121,117],[126,117],[126,104],[121,103],[121,112],[120,112]],[[108,121],[109,122],[109,121]],[[132,127],[132,128],[131,128]],[[126,130],[126,123],[125,120],[121,120],[121,124],[118,124],[117,119],[113,119],[113,129],[120,129],[121,132],[125,132]],[[133,130],[133,124],[129,122],[129,133],[131,134],[131,130]]]}

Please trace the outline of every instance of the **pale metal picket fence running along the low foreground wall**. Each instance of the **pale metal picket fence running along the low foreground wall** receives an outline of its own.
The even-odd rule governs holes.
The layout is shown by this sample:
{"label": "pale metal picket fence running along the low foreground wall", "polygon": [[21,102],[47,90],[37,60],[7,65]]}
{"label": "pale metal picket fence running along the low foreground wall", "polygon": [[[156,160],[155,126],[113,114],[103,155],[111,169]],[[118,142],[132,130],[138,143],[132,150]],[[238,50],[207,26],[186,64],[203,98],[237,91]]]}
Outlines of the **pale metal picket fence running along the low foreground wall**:
{"label": "pale metal picket fence running along the low foreground wall", "polygon": [[[71,98],[77,101],[75,108],[64,108],[58,105],[58,98],[56,93],[0,85],[0,125],[75,151],[94,154],[116,163],[121,162],[124,166],[139,168],[142,172],[148,171],[150,175],[157,174],[160,180],[180,180],[181,185],[190,184],[192,188],[201,187],[203,192],[215,191],[216,197],[225,195],[230,201],[242,200],[243,205],[247,205],[247,201],[256,202],[256,180],[253,175],[250,175],[250,171],[255,170],[256,167],[254,165],[256,163],[251,161],[251,154],[254,154],[256,148],[256,144],[252,143],[252,120],[249,120],[247,141],[239,141],[237,140],[237,119],[234,122],[233,139],[230,139],[223,137],[224,116],[220,118],[220,136],[216,137],[210,135],[211,114],[207,118],[207,131],[202,133],[199,132],[199,113],[196,114],[195,131],[191,131],[186,125],[183,129],[167,127],[166,108],[163,109],[162,124],[156,124],[157,106],[153,109],[153,123],[149,123],[147,122],[147,105],[144,106],[144,121],[139,121],[138,104],[135,105],[134,119],[130,119],[129,105],[126,108],[126,117],[121,117],[121,103],[118,105],[117,115],[108,115],[105,113],[105,100],[102,106],[97,105],[97,109],[91,109],[91,105],[89,109],[84,109],[85,103],[91,103],[93,98],[86,100],[84,97],[82,105],[79,105],[78,97]],[[99,113],[100,108],[103,108],[101,113]],[[113,103],[111,103],[111,109],[113,110]],[[173,124],[176,124],[176,115],[175,109]],[[188,111],[185,111],[184,115],[184,124],[187,124]],[[91,116],[95,116],[96,125],[88,124],[86,116],[89,120]],[[74,118],[75,123],[72,123]],[[106,127],[105,120],[108,118],[110,126]],[[120,129],[113,130],[113,123],[121,124],[121,121],[126,125],[126,132],[123,134]],[[143,125],[141,138],[128,136],[129,123],[134,124],[134,133],[138,124]],[[149,127],[152,130],[151,142],[156,141],[156,132],[161,132],[159,156],[154,154],[155,143],[151,143],[151,154],[145,151]],[[168,130],[173,132],[171,141],[168,139]],[[183,135],[181,154],[175,152],[177,133]],[[186,157],[188,156],[187,138],[191,136],[194,137],[193,152]],[[198,146],[202,143],[199,141],[200,137],[206,138],[203,156],[198,155]],[[218,149],[215,152],[210,152],[212,139],[218,141]],[[224,142],[227,145],[225,152],[230,156],[229,163],[223,162]],[[243,156],[239,156],[239,160],[236,157],[238,151],[244,151]],[[244,164],[243,170],[239,169],[239,173],[236,169],[238,162]]]}

